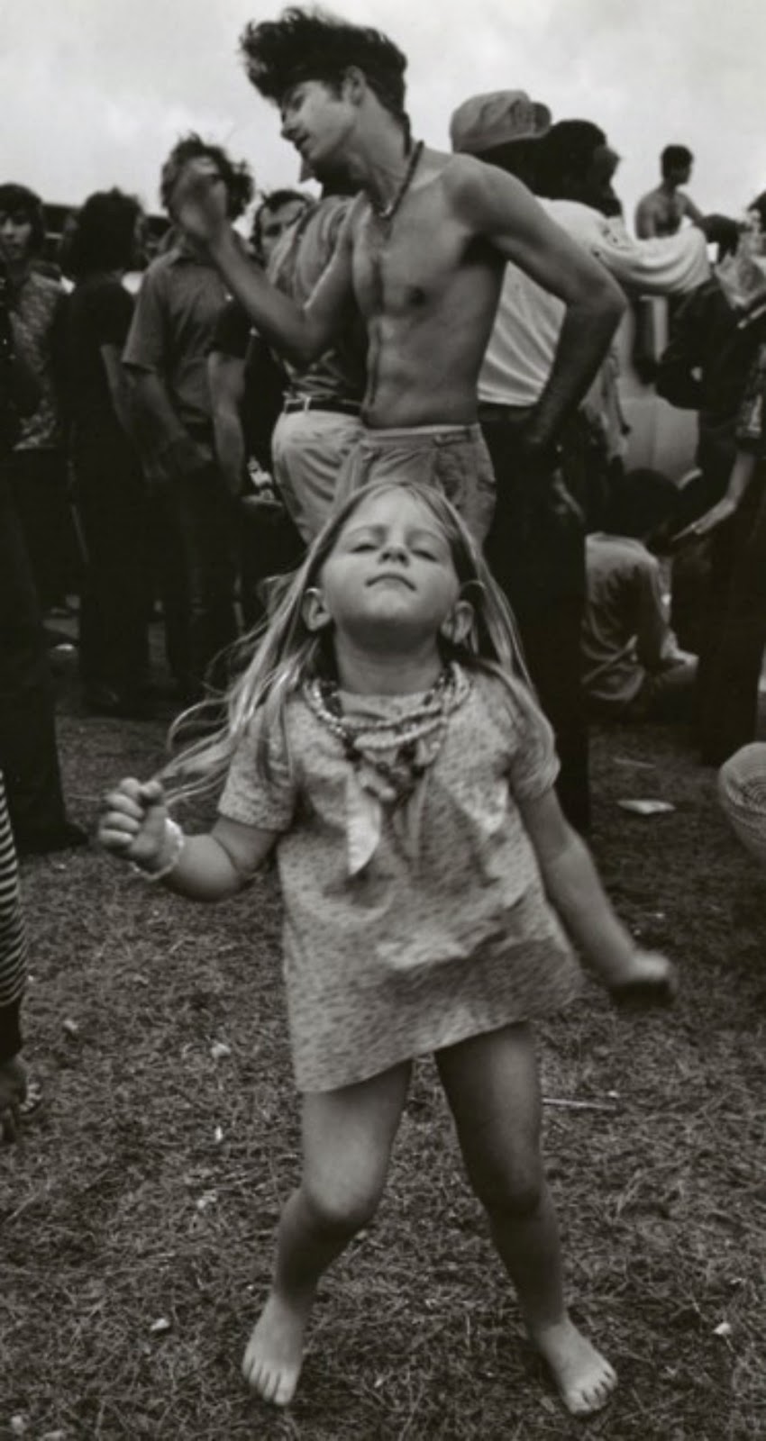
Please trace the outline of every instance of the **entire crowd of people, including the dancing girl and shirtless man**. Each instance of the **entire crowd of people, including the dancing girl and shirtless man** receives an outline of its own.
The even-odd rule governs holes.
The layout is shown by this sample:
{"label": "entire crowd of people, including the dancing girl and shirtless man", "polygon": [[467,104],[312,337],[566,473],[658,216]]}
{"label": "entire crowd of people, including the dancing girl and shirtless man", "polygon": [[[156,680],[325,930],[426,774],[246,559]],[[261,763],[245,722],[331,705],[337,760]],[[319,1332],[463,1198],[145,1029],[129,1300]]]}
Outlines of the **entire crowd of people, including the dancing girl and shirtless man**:
{"label": "entire crowd of people, including the dancing girl and shirtless man", "polygon": [[[14,849],[87,840],[50,624],[78,594],[84,709],[140,719],[162,612],[198,739],[162,784],[110,793],[101,843],[198,899],[276,849],[287,915],[304,1174],[245,1375],[291,1399],[319,1277],[372,1215],[433,1050],[529,1333],[587,1414],[615,1373],[564,1306],[528,1023],[576,987],[570,940],[615,994],[675,987],[583,840],[590,720],[688,722],[763,850],[741,813],[762,774],[766,193],[741,222],[703,215],[669,146],[632,235],[590,120],[477,94],[439,153],[410,133],[397,46],[304,10],[250,26],[242,59],[320,186],[263,196],[250,239],[248,166],[196,134],[163,166],[143,269],[131,196],[89,196],[56,271],[40,199],[0,186],[0,1114],[14,1131]],[[698,412],[684,486],[626,465],[613,337],[648,295],[672,308],[658,391]],[[219,820],[186,837],[167,798],[201,785],[224,787]]]}

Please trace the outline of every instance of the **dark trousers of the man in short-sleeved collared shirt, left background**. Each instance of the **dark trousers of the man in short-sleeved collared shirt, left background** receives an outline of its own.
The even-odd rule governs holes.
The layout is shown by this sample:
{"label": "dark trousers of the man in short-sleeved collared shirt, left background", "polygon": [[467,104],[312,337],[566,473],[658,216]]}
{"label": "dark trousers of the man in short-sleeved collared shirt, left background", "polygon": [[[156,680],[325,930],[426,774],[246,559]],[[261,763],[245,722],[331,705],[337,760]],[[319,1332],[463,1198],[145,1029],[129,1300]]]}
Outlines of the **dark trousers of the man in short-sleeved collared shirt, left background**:
{"label": "dark trousers of the man in short-sleeved collared shirt, left background", "polygon": [[167,660],[189,700],[205,684],[224,686],[216,659],[237,640],[237,509],[216,465],[176,476],[160,491],[163,550],[157,579],[167,628]]}

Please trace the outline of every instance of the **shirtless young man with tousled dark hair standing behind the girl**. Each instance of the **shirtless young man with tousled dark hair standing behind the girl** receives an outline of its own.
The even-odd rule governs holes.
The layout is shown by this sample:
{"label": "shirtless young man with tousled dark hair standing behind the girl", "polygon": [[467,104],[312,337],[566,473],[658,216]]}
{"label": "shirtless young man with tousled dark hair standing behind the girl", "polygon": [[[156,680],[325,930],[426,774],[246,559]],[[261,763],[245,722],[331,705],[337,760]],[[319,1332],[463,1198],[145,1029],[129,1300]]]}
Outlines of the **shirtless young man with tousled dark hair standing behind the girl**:
{"label": "shirtless young man with tousled dark hair standing behind the girl", "polygon": [[476,378],[512,259],[560,295],[565,321],[548,385],[529,416],[529,464],[587,389],[623,310],[619,288],[528,190],[467,156],[414,146],[404,55],[375,30],[287,10],[242,37],[248,75],[281,111],[312,167],[345,170],[362,192],[332,264],[303,307],[242,258],[211,167],[188,167],[175,213],[202,242],[260,333],[306,365],[346,324],[366,324],[364,432],[345,487],[395,473],[433,480],[483,539],[493,477],[476,425]]}

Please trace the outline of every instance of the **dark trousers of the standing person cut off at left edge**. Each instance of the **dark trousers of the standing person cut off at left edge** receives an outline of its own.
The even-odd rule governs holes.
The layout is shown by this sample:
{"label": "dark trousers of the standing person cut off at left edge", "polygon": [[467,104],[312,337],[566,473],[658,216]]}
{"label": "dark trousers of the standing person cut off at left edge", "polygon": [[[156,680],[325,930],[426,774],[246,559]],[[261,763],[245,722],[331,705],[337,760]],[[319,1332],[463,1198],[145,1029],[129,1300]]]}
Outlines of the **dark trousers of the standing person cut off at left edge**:
{"label": "dark trousers of the standing person cut off at left edge", "polygon": [[9,470],[0,464],[0,768],[19,849],[65,824],[53,680]]}

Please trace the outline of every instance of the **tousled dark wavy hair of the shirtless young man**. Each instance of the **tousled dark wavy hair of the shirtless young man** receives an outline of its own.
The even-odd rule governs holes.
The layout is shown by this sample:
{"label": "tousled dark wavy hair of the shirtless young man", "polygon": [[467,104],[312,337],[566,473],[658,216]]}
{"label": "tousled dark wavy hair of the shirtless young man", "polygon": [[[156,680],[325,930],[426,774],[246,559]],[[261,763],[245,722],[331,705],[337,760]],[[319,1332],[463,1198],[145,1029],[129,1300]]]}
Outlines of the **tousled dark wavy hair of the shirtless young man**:
{"label": "tousled dark wavy hair of the shirtless young man", "polygon": [[410,140],[404,110],[407,58],[381,30],[293,6],[278,20],[248,24],[239,48],[248,79],[277,105],[300,81],[322,81],[338,92],[346,71],[355,66]]}

